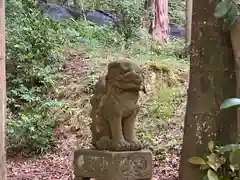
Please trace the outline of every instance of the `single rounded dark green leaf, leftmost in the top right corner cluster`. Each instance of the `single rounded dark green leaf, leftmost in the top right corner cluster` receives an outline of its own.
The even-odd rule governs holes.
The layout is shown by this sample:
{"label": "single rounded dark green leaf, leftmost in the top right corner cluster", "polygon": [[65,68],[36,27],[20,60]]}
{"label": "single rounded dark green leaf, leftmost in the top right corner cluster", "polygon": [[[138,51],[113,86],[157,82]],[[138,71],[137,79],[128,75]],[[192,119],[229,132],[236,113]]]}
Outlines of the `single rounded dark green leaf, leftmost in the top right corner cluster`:
{"label": "single rounded dark green leaf, leftmost in the top right corner cluster", "polygon": [[231,0],[221,0],[215,8],[216,17],[224,17],[232,6]]}

